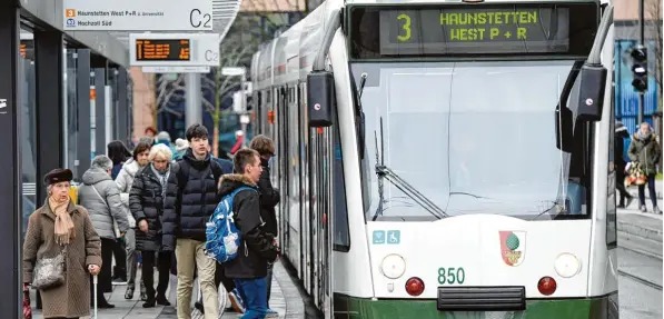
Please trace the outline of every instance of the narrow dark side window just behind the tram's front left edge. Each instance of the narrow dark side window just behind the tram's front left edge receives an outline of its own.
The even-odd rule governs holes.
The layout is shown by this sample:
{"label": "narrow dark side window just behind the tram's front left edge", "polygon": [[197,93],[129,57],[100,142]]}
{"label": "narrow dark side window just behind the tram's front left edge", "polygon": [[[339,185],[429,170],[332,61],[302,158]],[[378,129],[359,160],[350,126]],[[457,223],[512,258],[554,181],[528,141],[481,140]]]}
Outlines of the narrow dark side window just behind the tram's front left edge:
{"label": "narrow dark side window just behind the tram's front left edge", "polygon": [[[337,121],[338,123],[338,121]],[[348,209],[346,206],[346,185],[344,179],[344,161],[341,158],[341,134],[339,126],[334,124],[333,157],[333,193],[335,202],[334,213],[334,250],[348,251],[350,249],[350,237],[348,230]]]}

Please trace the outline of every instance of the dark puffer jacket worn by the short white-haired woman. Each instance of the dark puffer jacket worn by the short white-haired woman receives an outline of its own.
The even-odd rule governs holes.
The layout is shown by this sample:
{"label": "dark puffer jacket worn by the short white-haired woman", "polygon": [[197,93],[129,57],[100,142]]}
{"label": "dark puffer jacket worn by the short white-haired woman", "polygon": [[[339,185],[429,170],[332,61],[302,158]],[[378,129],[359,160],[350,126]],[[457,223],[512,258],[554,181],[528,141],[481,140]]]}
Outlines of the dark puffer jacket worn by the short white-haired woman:
{"label": "dark puffer jacket worn by the short white-haired woman", "polygon": [[[129,191],[129,209],[136,219],[136,250],[159,251],[161,248],[161,217],[163,197],[159,177],[151,165],[140,169]],[[148,232],[138,229],[141,220],[148,222]]]}

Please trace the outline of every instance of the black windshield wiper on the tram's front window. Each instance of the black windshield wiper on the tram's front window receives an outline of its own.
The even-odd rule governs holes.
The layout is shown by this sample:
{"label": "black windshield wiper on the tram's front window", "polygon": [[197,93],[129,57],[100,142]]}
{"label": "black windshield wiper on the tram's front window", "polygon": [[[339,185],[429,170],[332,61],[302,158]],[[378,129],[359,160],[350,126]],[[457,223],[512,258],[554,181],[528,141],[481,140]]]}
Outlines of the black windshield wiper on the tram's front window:
{"label": "black windshield wiper on the tram's front window", "polygon": [[378,158],[378,137],[376,137],[376,131],[374,131],[374,138],[376,140],[376,175],[378,176],[378,209],[376,210],[376,215],[374,215],[374,219],[376,220],[378,216],[383,216],[383,202],[384,202],[384,183],[383,180],[387,179],[390,181],[398,190],[407,195],[412,198],[415,202],[426,209],[429,213],[432,213],[437,219],[442,219],[443,217],[448,217],[448,215],[436,206],[432,200],[426,198],[422,192],[415,189],[412,185],[405,181],[402,177],[399,177],[396,172],[394,172],[390,168],[385,166],[385,150],[383,149],[383,117],[380,117],[380,146],[381,146],[381,160],[379,161]]}

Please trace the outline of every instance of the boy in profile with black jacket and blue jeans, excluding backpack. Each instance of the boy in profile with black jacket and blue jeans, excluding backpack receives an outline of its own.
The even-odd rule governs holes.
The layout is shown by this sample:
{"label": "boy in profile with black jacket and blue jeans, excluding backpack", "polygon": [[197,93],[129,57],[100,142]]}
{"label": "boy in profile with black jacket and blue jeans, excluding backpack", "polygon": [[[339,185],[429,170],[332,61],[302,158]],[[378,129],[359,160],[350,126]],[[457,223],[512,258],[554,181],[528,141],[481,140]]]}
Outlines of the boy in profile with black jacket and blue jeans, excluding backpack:
{"label": "boy in profile with black jacket and blue jeans, excluding backpack", "polygon": [[[239,236],[235,242],[239,245],[236,253],[226,256],[224,270],[227,277],[235,279],[245,301],[246,311],[240,318],[266,318],[267,265],[277,259],[279,249],[274,243],[274,236],[264,230],[260,216],[260,195],[256,186],[262,172],[260,156],[252,149],[241,149],[232,161],[236,173],[221,178],[219,195],[222,202],[231,199],[230,216]],[[229,251],[228,247],[225,251]]]}

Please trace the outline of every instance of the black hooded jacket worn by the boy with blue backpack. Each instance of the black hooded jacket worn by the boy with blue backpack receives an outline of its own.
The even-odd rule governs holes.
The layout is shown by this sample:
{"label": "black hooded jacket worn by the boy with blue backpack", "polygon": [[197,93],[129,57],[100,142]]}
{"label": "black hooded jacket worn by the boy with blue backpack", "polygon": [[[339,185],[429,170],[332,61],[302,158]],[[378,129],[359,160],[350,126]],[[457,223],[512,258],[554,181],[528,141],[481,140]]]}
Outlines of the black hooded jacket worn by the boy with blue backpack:
{"label": "black hooded jacket worn by the boy with blue backpack", "polygon": [[[219,181],[221,197],[242,186],[256,187],[242,175],[225,175]],[[240,232],[240,247],[235,259],[224,263],[228,278],[260,278],[267,276],[267,262],[277,258],[274,236],[267,233],[260,218],[260,197],[256,190],[242,190],[232,199],[235,225]]]}

